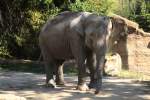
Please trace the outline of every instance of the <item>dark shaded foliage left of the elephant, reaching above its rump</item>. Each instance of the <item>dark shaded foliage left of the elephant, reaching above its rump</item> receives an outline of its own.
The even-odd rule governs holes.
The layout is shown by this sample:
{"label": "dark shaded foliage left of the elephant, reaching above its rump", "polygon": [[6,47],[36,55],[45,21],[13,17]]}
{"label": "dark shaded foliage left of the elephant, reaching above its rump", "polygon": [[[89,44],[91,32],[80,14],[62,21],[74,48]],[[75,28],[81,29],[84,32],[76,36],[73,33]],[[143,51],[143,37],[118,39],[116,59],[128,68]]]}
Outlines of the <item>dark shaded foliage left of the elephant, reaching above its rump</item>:
{"label": "dark shaded foliage left of the elephant, reaching above its rump", "polygon": [[59,9],[50,8],[52,0],[0,1],[3,26],[0,28],[0,56],[38,59],[41,26]]}

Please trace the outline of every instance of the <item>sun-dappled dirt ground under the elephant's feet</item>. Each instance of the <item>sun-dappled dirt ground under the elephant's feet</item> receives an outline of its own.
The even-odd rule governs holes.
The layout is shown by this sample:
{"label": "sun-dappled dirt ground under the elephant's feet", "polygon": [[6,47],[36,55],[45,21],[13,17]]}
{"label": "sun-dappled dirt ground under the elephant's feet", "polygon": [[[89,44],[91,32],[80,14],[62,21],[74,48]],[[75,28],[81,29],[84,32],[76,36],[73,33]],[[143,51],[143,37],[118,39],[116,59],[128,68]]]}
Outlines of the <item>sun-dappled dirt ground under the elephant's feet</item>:
{"label": "sun-dappled dirt ground under the elephant's feet", "polygon": [[43,74],[2,71],[0,100],[150,100],[150,88],[134,79],[104,77],[99,95],[75,90],[77,76],[65,75],[65,80],[65,87],[51,89],[44,86]]}

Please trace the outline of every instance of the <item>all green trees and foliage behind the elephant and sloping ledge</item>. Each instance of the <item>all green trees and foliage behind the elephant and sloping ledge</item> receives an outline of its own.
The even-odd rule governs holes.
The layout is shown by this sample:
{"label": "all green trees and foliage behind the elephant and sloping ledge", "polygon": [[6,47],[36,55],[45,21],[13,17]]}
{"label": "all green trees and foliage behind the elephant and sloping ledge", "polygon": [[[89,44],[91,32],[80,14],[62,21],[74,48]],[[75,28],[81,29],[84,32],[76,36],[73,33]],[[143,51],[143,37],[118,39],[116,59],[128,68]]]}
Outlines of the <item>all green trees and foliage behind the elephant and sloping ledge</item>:
{"label": "all green trees and foliage behind the elephant and sloping ledge", "polygon": [[66,10],[116,13],[150,32],[149,0],[0,0],[0,57],[37,60],[42,25]]}

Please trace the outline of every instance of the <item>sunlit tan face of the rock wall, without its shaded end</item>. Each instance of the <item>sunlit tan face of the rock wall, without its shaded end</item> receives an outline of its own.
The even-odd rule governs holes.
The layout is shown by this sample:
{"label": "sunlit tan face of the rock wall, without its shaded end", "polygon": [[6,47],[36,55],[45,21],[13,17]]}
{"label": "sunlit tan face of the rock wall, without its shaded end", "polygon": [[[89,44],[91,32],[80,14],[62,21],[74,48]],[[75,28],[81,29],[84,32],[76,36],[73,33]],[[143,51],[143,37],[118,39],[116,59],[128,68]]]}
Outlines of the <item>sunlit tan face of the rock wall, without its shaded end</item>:
{"label": "sunlit tan face of the rock wall, without its shaded end", "polygon": [[150,37],[131,34],[128,36],[129,69],[150,73]]}

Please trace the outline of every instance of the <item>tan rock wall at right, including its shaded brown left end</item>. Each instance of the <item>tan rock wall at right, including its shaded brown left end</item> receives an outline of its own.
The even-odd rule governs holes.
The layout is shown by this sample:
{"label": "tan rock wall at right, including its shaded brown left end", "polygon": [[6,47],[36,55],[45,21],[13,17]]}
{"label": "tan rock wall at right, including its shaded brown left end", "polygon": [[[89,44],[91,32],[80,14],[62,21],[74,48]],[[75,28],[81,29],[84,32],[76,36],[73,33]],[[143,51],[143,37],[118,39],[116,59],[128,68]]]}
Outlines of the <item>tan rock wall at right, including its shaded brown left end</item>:
{"label": "tan rock wall at right, including its shaded brown left end", "polygon": [[120,39],[114,50],[122,59],[122,68],[150,74],[150,37],[129,34]]}

